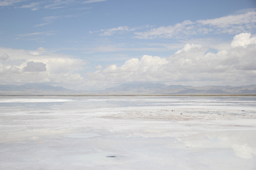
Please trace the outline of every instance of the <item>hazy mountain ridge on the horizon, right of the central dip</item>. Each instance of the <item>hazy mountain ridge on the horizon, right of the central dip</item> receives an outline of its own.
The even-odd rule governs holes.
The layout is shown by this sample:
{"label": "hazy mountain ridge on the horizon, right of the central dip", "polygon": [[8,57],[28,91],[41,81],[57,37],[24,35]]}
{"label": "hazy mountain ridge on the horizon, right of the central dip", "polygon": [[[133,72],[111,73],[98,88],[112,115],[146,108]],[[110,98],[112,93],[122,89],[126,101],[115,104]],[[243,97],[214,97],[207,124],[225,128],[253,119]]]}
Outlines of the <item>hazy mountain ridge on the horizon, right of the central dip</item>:
{"label": "hazy mountain ridge on the horizon, right of the central dip", "polygon": [[121,84],[117,87],[97,91],[98,94],[256,94],[256,85],[250,86],[181,86],[165,84]]}

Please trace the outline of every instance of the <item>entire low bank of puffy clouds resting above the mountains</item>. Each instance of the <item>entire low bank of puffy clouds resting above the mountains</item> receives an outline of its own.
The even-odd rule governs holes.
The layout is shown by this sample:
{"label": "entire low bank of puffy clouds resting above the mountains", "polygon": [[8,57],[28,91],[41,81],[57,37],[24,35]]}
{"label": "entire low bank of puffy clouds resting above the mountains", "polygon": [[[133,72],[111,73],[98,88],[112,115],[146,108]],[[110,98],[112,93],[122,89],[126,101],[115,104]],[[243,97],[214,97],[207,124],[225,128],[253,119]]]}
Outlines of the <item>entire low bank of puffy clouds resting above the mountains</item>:
{"label": "entire low bank of puffy clouds resting above the mountains", "polygon": [[187,43],[170,57],[143,55],[123,64],[102,64],[85,71],[85,60],[36,51],[0,48],[0,81],[5,84],[48,83],[76,89],[104,89],[126,82],[158,82],[191,86],[256,84],[256,38],[235,35],[224,50],[208,52],[208,45]]}

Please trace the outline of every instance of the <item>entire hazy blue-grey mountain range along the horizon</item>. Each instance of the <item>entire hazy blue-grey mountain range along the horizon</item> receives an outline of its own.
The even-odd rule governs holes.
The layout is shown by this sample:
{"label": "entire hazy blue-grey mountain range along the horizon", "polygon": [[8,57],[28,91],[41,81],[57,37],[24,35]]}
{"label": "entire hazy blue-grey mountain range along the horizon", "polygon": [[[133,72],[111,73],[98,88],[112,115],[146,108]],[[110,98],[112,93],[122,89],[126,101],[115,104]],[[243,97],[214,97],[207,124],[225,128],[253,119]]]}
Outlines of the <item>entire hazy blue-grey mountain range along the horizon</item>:
{"label": "entire hazy blue-grey mountain range along the horizon", "polygon": [[256,94],[250,86],[181,86],[165,84],[121,84],[101,91],[75,91],[46,84],[0,84],[0,95],[199,95],[199,94]]}

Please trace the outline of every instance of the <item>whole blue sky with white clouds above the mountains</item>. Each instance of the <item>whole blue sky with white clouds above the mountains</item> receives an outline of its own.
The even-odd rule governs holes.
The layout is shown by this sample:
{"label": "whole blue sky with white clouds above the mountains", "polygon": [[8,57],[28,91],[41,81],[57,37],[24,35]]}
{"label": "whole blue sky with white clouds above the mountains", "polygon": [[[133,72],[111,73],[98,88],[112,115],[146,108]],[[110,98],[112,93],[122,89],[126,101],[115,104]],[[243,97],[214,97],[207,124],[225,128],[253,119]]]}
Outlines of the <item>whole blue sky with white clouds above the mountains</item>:
{"label": "whole blue sky with white clouds above the mountains", "polygon": [[256,84],[255,0],[0,0],[0,84]]}

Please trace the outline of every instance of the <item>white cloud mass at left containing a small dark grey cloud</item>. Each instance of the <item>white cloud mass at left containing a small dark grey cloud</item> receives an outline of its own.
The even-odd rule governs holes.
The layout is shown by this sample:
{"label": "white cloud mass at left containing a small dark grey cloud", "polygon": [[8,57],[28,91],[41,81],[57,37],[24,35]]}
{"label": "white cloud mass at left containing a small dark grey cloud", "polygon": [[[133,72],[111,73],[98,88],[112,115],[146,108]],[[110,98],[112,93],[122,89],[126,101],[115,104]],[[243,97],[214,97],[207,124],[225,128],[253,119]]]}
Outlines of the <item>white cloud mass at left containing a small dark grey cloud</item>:
{"label": "white cloud mass at left containing a small dark grey cloud", "polygon": [[8,60],[0,62],[2,84],[48,82],[70,88],[73,88],[75,84],[85,84],[85,79],[79,73],[86,64],[84,60],[46,51],[4,47],[0,47],[0,54],[10,56]]}

